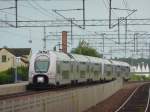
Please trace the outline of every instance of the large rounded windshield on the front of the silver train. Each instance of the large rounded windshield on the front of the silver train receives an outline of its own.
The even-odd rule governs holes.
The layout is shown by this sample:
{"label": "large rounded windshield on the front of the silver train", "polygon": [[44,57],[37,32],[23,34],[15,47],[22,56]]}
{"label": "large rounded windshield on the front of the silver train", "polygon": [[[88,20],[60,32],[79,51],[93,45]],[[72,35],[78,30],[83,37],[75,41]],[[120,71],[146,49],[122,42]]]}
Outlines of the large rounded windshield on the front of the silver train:
{"label": "large rounded windshield on the front of the silver train", "polygon": [[34,68],[37,73],[47,73],[49,69],[50,61],[47,56],[37,57],[35,60]]}

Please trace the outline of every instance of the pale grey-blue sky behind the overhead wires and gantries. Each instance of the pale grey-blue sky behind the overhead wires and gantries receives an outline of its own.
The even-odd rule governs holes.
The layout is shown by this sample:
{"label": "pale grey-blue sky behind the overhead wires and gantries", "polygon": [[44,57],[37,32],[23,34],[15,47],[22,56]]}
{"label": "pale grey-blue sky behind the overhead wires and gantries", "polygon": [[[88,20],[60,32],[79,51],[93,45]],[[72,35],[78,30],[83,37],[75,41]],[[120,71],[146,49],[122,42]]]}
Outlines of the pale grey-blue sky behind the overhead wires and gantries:
{"label": "pale grey-blue sky behind the overhead wires and gantries", "polygon": [[[0,9],[13,7],[13,0],[0,0]],[[132,19],[137,18],[150,18],[150,1],[149,0],[112,0],[113,8],[121,8],[121,9],[136,9],[137,11],[130,16]],[[109,0],[85,0],[85,17],[86,19],[108,19],[109,16]],[[26,21],[26,20],[64,20],[62,17],[58,16],[53,12],[53,10],[66,10],[66,9],[81,9],[82,8],[82,0],[19,0],[18,1],[18,21]],[[82,11],[61,11],[60,12],[66,18],[74,18],[74,19],[82,19]],[[119,17],[125,17],[129,11],[118,11],[113,10],[112,18],[117,19]],[[0,10],[0,20],[15,20],[15,9],[5,9]],[[1,23],[2,24],[2,23]],[[3,23],[4,24],[4,23]],[[33,52],[43,49],[43,37],[44,31],[42,28],[0,28],[0,47],[10,47],[10,48],[26,48],[31,47]],[[70,27],[51,27],[46,28],[46,35],[49,35],[47,40],[47,49],[52,50],[55,45],[61,42],[60,36],[52,36],[52,35],[61,35],[60,32],[68,31],[70,32]],[[104,52],[110,56],[114,57],[123,57],[124,52],[117,49],[124,48],[124,45],[116,45],[114,41],[105,39],[106,46],[109,43],[113,44],[113,47],[105,48],[103,51],[102,40],[94,40],[88,36],[88,34],[93,34],[95,32],[104,32],[104,31],[116,31],[117,28],[109,29],[108,27],[86,27],[85,30],[74,26],[73,34],[81,34],[87,35],[86,37],[91,38],[87,40],[91,46],[95,47],[99,52]],[[124,33],[124,27],[120,28],[121,33]],[[128,30],[132,31],[146,31],[149,32],[150,26],[129,26]],[[116,33],[116,32],[115,32]],[[84,36],[79,36],[78,38],[86,38]],[[97,38],[100,36],[97,36]],[[52,38],[58,38],[57,41],[51,40]],[[68,37],[70,38],[70,37]],[[75,37],[73,37],[75,38]],[[107,37],[111,38],[111,37]],[[129,37],[130,38],[130,37]],[[148,38],[148,37],[147,37]],[[73,41],[72,45],[68,45],[69,51],[72,48],[75,48],[78,45],[79,40],[76,39]],[[32,40],[32,43],[29,43],[29,40]],[[124,40],[123,40],[124,41]],[[147,39],[142,40],[147,41]],[[149,41],[149,40],[148,40]],[[70,43],[70,40],[69,40]],[[128,47],[129,48],[129,47]],[[128,56],[132,56],[132,53],[129,53]]]}

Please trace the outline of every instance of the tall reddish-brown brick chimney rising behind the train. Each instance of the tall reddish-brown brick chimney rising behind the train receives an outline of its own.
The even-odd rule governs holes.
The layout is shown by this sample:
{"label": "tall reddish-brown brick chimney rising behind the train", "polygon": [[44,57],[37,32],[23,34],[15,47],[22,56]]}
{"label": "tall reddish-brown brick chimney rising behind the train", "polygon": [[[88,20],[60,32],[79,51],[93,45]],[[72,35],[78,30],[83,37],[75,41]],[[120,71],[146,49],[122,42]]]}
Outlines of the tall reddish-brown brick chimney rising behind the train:
{"label": "tall reddish-brown brick chimney rising behind the train", "polygon": [[62,32],[62,52],[67,53],[67,31]]}

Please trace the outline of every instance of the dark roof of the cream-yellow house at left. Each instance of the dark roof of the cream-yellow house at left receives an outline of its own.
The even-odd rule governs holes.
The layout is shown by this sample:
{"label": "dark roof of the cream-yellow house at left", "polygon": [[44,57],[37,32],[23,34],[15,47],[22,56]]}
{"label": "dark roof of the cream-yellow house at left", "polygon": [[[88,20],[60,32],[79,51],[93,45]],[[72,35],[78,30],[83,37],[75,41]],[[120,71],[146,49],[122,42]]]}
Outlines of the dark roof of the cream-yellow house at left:
{"label": "dark roof of the cream-yellow house at left", "polygon": [[0,48],[0,50],[1,49],[6,49],[16,57],[29,55],[31,51],[31,48]]}

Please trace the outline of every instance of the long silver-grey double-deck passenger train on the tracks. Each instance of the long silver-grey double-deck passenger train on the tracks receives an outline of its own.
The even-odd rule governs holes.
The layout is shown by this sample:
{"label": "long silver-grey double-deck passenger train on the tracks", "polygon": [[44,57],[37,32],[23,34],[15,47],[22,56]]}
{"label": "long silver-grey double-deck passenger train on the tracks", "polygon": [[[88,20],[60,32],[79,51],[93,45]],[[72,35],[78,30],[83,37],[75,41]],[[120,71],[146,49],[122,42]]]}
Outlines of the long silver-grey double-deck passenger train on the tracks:
{"label": "long silver-grey double-deck passenger train on the tracks", "polygon": [[130,65],[126,62],[97,57],[39,51],[32,55],[28,89],[51,86],[128,79]]}

